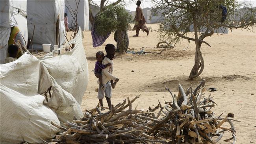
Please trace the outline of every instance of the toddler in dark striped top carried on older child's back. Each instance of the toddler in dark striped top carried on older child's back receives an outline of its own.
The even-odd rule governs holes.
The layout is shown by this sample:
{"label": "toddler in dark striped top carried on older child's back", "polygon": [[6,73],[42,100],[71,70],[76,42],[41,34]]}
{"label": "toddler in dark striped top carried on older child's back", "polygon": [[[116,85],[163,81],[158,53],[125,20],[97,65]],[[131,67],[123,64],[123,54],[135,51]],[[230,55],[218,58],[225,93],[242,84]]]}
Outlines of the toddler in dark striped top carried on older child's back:
{"label": "toddler in dark striped top carried on older child's back", "polygon": [[99,81],[100,81],[100,88],[101,89],[104,88],[104,86],[102,85],[102,74],[101,74],[102,69],[105,69],[106,67],[111,65],[110,63],[108,63],[107,65],[102,65],[103,58],[104,58],[104,53],[103,52],[97,52],[96,53],[97,61],[95,63],[94,74],[95,74],[96,78],[98,78]]}

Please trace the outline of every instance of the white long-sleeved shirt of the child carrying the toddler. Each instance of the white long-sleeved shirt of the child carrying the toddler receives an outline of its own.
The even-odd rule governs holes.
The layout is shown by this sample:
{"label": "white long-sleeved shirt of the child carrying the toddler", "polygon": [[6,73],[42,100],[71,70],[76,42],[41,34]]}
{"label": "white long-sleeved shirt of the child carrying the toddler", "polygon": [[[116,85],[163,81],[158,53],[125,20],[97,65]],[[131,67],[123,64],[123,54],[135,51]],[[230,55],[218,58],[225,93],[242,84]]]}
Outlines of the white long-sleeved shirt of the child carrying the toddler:
{"label": "white long-sleeved shirt of the child carrying the toddler", "polygon": [[[112,79],[113,81],[115,81],[117,79],[117,77],[113,76],[113,61],[110,60],[108,57],[104,57],[103,61],[102,61],[102,65],[107,65],[108,63],[110,63],[111,65],[106,67],[105,69],[102,69],[101,74],[102,74],[102,84],[106,84],[108,81],[110,81],[110,79]],[[98,80],[97,83],[100,83],[100,81]]]}

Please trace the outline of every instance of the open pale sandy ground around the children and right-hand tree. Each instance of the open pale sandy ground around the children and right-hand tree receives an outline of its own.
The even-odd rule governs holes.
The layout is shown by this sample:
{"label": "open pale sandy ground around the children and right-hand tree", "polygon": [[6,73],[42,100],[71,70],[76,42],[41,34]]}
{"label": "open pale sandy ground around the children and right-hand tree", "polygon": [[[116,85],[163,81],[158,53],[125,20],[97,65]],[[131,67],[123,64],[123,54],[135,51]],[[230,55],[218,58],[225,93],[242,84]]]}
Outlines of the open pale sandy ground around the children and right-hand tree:
{"label": "open pale sandy ground around the children and right-hand tree", "polygon": [[[132,37],[135,31],[128,31],[130,46],[134,51],[160,52],[156,48],[160,41],[156,33],[157,25],[148,24],[152,32],[149,36],[140,31],[139,37]],[[82,109],[92,109],[97,103],[98,87],[94,76],[95,53],[103,51],[108,43],[115,44],[113,34],[98,48],[93,48],[91,31],[84,31],[83,46],[89,65],[89,84],[83,97]],[[190,36],[193,33],[189,34]],[[205,39],[211,47],[202,44],[202,54],[205,68],[200,78],[187,80],[194,64],[195,44],[182,40],[174,49],[161,54],[117,54],[114,60],[113,75],[120,78],[117,86],[112,91],[112,104],[116,105],[125,98],[134,98],[141,95],[134,102],[138,109],[147,109],[148,106],[164,101],[172,101],[169,92],[164,88],[164,83],[174,93],[178,93],[178,84],[184,88],[196,87],[199,81],[206,79],[206,88],[214,87],[218,91],[211,92],[213,100],[217,103],[214,107],[215,115],[234,113],[234,122],[237,130],[237,144],[256,143],[256,35],[247,30],[233,30],[228,34],[217,35]],[[134,72],[132,72],[134,71]],[[210,94],[209,90],[205,95]],[[104,99],[104,105],[107,102]],[[221,144],[230,144],[223,139],[230,138],[226,133]]]}

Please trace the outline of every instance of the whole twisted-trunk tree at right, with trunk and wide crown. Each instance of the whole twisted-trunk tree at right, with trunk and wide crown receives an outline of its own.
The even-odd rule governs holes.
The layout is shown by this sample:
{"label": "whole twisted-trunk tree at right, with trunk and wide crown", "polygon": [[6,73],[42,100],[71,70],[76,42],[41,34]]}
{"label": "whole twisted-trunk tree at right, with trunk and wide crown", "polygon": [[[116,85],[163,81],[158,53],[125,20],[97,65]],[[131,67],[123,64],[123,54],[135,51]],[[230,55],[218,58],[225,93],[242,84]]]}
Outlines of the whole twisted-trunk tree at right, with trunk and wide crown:
{"label": "whole twisted-trunk tree at right, with trunk and wide crown", "polygon": [[[210,46],[204,38],[213,35],[218,28],[229,28],[231,31],[234,28],[251,30],[256,23],[256,9],[242,6],[236,0],[152,1],[156,4],[152,13],[162,19],[159,22],[159,35],[162,40],[174,44],[179,42],[180,38],[195,42],[195,64],[189,79],[196,78],[204,70],[204,59],[200,48],[202,43]],[[194,35],[188,37],[187,33],[191,27]]]}

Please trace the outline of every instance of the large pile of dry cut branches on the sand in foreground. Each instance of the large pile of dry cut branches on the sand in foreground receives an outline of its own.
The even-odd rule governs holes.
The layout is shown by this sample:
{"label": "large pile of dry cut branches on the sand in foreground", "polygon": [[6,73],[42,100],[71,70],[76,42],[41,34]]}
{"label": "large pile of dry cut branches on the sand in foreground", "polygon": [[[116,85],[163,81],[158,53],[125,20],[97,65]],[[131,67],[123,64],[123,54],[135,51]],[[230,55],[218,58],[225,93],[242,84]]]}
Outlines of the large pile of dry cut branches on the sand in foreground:
{"label": "large pile of dry cut branches on the sand in foreground", "polygon": [[[236,142],[233,119],[215,116],[211,108],[216,105],[211,95],[204,96],[205,81],[192,90],[178,85],[176,96],[168,90],[172,102],[159,102],[147,111],[132,109],[132,103],[139,98],[127,98],[112,109],[102,113],[99,107],[85,111],[84,117],[66,122],[59,127],[63,132],[52,142],[59,144],[83,143],[170,143],[207,144],[217,143],[224,131],[229,131]],[[225,123],[225,124],[224,124]],[[224,126],[223,126],[224,125]]]}

